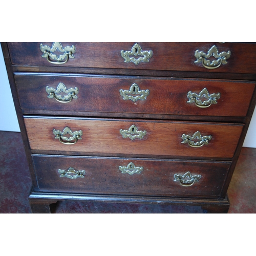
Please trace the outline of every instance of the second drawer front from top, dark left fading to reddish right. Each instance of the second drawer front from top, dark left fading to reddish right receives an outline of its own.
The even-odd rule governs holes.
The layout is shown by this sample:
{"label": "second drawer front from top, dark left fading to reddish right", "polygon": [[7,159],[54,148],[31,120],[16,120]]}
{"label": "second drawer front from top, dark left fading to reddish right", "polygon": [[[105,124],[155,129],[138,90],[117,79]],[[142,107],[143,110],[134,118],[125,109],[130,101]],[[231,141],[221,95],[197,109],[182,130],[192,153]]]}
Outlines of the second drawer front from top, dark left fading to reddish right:
{"label": "second drawer front from top, dark left fading to reddish right", "polygon": [[15,81],[22,109],[53,114],[85,111],[246,116],[255,86],[254,82],[240,81],[51,74],[16,74]]}

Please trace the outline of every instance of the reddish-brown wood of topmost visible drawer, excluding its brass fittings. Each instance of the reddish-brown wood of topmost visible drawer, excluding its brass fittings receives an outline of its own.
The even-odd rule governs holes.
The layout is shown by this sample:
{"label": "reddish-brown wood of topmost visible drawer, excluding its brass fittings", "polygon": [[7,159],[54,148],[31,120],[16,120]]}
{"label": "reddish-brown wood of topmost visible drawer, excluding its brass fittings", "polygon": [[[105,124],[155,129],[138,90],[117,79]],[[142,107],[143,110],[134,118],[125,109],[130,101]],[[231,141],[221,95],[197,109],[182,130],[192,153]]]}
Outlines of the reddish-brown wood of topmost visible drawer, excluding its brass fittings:
{"label": "reddish-brown wood of topmost visible drawer, excluding its brass fittings", "polygon": [[[13,65],[23,66],[60,66],[50,63],[47,58],[41,57],[43,52],[40,44],[52,47],[52,42],[9,42],[8,47]],[[135,42],[63,42],[62,47],[75,47],[74,58],[62,64],[62,67],[84,68],[112,68],[112,69],[147,69],[172,71],[201,71],[254,74],[256,67],[253,63],[256,58],[256,44],[219,42],[138,42],[142,51],[148,51],[148,62],[124,62],[121,51],[131,51]],[[218,54],[228,53],[230,57],[226,64],[219,68],[207,69],[201,63],[195,63],[195,53],[205,54],[216,46]],[[134,48],[135,51],[136,47]],[[137,47],[137,51],[139,48]],[[152,51],[152,52],[150,52]],[[59,55],[60,52],[54,52]],[[62,53],[63,54],[63,53]],[[65,53],[64,53],[65,54]],[[136,53],[137,54],[137,53]],[[130,58],[138,59],[139,55]],[[144,55],[142,56],[142,58]],[[209,58],[210,61],[212,57]],[[64,59],[65,60],[65,59]],[[135,60],[135,62],[136,62]],[[216,59],[215,59],[216,60]]]}

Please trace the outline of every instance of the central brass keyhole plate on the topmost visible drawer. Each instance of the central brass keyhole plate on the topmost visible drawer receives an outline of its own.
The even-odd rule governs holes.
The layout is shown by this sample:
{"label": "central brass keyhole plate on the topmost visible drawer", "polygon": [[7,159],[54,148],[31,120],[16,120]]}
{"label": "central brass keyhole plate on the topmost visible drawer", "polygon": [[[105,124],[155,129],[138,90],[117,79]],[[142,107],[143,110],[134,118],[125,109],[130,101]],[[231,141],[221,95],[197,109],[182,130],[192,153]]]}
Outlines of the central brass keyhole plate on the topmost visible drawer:
{"label": "central brass keyhole plate on the topmost visible drawer", "polygon": [[[132,47],[131,51],[121,51],[121,56],[124,58],[124,62],[133,62],[135,65],[138,65],[140,62],[149,62],[149,59],[152,57],[152,55],[152,50],[142,51],[141,46],[137,43]],[[134,56],[142,57],[135,58]]]}

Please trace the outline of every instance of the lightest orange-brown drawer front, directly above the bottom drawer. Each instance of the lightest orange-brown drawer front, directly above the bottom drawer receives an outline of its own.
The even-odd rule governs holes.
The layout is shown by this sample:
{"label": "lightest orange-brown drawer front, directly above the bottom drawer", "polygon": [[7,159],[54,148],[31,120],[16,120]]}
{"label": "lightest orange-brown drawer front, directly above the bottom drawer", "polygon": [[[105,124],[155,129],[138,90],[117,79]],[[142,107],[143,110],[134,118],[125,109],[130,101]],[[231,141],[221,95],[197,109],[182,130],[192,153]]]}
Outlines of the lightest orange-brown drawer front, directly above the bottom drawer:
{"label": "lightest orange-brown drawer front, directly above the bottom drawer", "polygon": [[[26,117],[25,125],[32,150],[134,157],[232,158],[243,129],[240,124],[89,118]],[[71,141],[63,138],[71,136],[67,132],[76,132]]]}

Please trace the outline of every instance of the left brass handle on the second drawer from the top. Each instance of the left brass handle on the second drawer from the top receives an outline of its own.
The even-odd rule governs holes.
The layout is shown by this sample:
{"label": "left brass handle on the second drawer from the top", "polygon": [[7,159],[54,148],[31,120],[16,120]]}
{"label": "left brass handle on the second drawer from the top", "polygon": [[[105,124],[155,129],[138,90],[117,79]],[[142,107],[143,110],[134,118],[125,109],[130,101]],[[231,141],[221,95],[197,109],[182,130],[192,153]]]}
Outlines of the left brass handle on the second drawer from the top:
{"label": "left brass handle on the second drawer from the top", "polygon": [[[58,102],[68,103],[72,99],[78,98],[77,94],[78,94],[79,90],[77,87],[67,89],[65,84],[60,82],[56,89],[47,86],[46,92],[49,94],[49,96],[47,96],[48,98],[50,98],[50,99],[55,98]],[[61,92],[65,93],[67,95],[64,95],[64,96],[58,95]]]}

